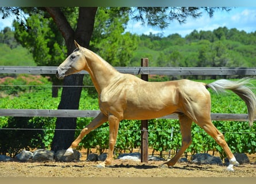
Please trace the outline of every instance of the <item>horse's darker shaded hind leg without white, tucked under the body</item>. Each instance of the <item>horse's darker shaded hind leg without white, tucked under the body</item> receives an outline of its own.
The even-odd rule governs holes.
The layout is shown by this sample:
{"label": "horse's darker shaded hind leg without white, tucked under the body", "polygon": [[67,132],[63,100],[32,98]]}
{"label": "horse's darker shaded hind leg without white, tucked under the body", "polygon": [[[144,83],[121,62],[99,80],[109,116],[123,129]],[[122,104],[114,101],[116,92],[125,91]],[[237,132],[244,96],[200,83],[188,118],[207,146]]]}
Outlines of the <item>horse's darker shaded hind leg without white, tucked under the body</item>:
{"label": "horse's darker shaded hind leg without white, tucked under the body", "polygon": [[174,166],[174,164],[177,163],[181,155],[184,154],[186,149],[192,143],[192,138],[191,138],[192,120],[185,114],[179,114],[179,125],[181,129],[182,145],[179,151],[177,152],[177,154],[175,154],[175,156],[171,160],[164,163],[164,164],[167,164],[167,166]]}

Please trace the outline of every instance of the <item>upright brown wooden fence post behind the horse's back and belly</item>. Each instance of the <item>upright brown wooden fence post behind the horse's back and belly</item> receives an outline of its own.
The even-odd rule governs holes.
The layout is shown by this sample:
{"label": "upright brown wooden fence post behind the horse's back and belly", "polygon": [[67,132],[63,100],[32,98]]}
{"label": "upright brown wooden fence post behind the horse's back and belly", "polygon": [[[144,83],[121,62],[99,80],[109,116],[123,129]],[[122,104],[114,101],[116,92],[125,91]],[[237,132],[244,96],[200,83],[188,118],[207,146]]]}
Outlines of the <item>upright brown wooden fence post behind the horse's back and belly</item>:
{"label": "upright brown wooden fence post behind the horse's back and belly", "polygon": [[[148,58],[142,58],[141,59],[141,66],[142,67],[148,67]],[[148,81],[148,75],[142,74],[141,78],[144,81]],[[148,163],[148,120],[142,120],[141,125],[141,146],[140,146],[140,161]]]}

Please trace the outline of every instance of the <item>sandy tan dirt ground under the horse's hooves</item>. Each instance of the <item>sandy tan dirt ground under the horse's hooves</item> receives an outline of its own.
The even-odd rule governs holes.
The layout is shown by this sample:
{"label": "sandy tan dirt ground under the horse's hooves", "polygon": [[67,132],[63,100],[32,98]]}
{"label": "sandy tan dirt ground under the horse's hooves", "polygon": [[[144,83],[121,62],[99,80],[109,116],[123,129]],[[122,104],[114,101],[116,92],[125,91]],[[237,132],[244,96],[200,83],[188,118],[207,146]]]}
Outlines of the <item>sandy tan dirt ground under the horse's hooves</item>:
{"label": "sandy tan dirt ground under the horse's hooves", "polygon": [[256,164],[243,164],[226,171],[225,166],[177,163],[161,167],[162,161],[140,163],[113,160],[112,165],[98,168],[100,162],[0,162],[0,177],[256,177]]}

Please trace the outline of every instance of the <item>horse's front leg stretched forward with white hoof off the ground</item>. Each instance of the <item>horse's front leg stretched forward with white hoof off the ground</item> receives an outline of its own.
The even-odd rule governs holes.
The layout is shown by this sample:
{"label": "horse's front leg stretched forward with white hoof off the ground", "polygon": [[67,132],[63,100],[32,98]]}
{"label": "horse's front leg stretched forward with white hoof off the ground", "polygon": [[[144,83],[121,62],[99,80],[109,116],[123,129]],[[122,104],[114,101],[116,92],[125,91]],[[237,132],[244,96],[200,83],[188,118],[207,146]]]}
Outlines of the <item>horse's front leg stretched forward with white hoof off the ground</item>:
{"label": "horse's front leg stretched forward with white hoof off the ground", "polygon": [[98,116],[95,117],[89,125],[82,129],[77,139],[75,139],[70,145],[70,147],[66,150],[64,156],[72,155],[74,153],[73,149],[77,148],[78,144],[82,141],[83,137],[85,137],[93,129],[100,127],[100,125],[104,124],[104,122],[106,121],[108,121],[107,116],[105,116],[103,113],[98,114]]}

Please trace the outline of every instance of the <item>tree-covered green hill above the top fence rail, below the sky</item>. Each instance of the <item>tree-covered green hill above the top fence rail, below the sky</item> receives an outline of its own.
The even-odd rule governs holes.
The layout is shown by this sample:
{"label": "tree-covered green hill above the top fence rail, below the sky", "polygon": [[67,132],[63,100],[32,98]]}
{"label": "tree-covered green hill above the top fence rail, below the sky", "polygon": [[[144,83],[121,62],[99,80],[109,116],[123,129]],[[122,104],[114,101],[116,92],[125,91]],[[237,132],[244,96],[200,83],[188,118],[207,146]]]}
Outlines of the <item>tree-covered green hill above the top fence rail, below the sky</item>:
{"label": "tree-covered green hill above the top fence rail, below the sky", "polygon": [[[95,37],[98,35],[97,31],[96,29]],[[140,66],[140,58],[148,57],[152,67],[255,67],[256,32],[246,33],[236,28],[220,27],[213,31],[193,30],[186,37],[181,37],[178,33],[167,37],[152,33],[127,33],[125,36],[132,37],[129,39],[131,41],[136,40],[135,47],[129,50],[129,56],[123,58],[131,58],[127,61],[121,59],[118,62],[120,56],[117,53],[113,57],[110,51],[104,52],[106,43],[103,41],[100,45],[93,41],[91,47],[114,66]],[[114,36],[115,40],[118,40],[117,37]],[[124,45],[127,45],[124,41],[116,42],[112,50]],[[1,30],[0,48],[0,65],[35,66],[37,63],[28,49],[17,43],[14,31],[10,28]]]}

